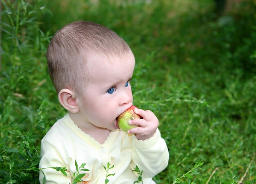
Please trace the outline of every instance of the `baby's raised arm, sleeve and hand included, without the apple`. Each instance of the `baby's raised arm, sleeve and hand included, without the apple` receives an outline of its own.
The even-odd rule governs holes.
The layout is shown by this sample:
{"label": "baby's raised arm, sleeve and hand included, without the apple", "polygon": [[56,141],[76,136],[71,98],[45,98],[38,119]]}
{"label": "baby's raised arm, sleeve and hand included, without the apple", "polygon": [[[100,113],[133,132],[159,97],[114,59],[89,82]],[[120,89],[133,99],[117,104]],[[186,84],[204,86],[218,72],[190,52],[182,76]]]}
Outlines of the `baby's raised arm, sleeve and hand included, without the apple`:
{"label": "baby's raised arm, sleeve and hand included, without the apple", "polygon": [[132,139],[132,167],[137,165],[143,171],[142,178],[153,177],[168,165],[169,153],[166,142],[161,138],[158,119],[151,111],[135,109],[143,119],[134,119],[130,124],[139,125],[128,133],[135,133]]}

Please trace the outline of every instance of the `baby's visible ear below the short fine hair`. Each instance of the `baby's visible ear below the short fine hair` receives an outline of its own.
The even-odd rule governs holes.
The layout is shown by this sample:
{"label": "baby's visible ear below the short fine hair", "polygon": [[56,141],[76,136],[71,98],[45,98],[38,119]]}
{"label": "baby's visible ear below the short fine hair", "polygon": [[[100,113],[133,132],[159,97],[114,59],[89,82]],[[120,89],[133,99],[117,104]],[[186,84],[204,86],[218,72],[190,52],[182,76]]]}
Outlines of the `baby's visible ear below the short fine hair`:
{"label": "baby's visible ear below the short fine hair", "polygon": [[78,113],[79,106],[77,104],[77,97],[74,91],[69,89],[62,89],[58,93],[58,101],[61,105],[71,113]]}

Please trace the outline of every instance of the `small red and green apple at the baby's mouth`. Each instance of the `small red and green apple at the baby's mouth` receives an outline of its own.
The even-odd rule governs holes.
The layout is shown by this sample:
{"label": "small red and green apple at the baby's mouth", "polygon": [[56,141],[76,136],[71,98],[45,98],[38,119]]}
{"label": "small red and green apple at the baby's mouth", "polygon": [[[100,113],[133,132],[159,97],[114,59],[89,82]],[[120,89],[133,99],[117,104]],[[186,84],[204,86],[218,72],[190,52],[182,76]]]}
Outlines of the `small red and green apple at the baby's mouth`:
{"label": "small red and green apple at the baby's mouth", "polygon": [[136,106],[132,105],[126,111],[121,113],[117,117],[117,123],[121,131],[127,132],[128,130],[137,127],[138,125],[130,125],[128,120],[133,120],[135,118],[142,119],[142,117],[134,112],[134,109],[137,108]]}

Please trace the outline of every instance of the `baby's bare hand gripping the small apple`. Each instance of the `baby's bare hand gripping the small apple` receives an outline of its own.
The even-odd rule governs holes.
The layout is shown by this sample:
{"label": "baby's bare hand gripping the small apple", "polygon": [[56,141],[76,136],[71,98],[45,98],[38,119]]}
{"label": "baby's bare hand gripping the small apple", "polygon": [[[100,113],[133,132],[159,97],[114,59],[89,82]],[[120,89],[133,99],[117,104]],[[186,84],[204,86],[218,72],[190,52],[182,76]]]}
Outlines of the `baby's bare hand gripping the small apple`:
{"label": "baby's bare hand gripping the small apple", "polygon": [[128,133],[135,133],[138,140],[147,140],[153,137],[158,127],[158,119],[155,114],[149,110],[135,108],[134,112],[143,119],[129,120],[130,125],[139,125],[139,127],[132,128]]}

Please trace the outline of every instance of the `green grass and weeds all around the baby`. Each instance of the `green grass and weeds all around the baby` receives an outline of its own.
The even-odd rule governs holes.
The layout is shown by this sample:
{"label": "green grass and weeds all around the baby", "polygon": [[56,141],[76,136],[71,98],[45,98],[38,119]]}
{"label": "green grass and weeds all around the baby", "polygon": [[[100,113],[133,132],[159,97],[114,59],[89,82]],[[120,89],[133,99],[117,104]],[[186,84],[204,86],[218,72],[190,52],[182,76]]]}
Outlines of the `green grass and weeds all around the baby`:
{"label": "green grass and weeds all around the baby", "polygon": [[38,183],[40,140],[66,113],[46,48],[81,19],[113,29],[135,53],[134,104],[157,115],[170,152],[155,182],[256,183],[254,1],[222,16],[212,0],[1,3],[0,183]]}

